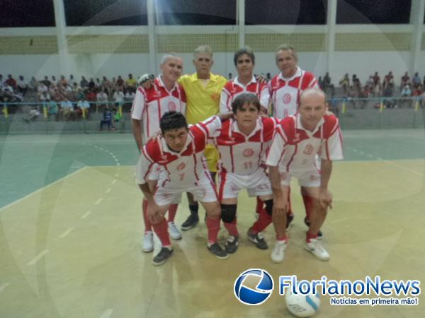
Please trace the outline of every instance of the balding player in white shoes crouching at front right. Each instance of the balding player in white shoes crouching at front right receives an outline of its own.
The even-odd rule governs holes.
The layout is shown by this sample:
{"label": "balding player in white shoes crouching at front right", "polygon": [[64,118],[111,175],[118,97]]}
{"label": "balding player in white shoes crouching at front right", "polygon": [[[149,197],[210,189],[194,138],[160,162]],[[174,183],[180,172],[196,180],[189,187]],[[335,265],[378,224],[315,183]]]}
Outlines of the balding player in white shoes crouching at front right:
{"label": "balding player in white shoes crouching at front right", "polygon": [[[305,249],[322,261],[329,259],[328,252],[317,240],[324,223],[327,207],[332,207],[332,194],[328,183],[332,160],[343,158],[341,131],[334,115],[325,114],[326,95],[318,88],[310,88],[300,95],[300,107],[295,116],[286,117],[276,127],[267,165],[273,188],[273,225],[277,240],[271,253],[272,261],[283,261],[288,238],[286,218],[291,177],[296,177],[307,194],[312,197],[312,214]],[[316,155],[321,160],[320,172]]]}

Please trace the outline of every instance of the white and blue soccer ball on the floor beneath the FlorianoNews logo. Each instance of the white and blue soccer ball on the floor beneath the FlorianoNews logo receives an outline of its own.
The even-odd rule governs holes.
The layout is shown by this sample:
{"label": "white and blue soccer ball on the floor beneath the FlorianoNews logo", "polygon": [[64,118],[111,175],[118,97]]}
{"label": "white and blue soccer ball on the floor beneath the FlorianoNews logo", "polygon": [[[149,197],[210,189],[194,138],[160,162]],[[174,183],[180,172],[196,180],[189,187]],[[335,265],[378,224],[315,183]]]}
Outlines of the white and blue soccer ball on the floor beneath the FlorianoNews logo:
{"label": "white and blue soccer ball on the floor beneath the FlorianoNews logo", "polygon": [[310,317],[319,310],[320,306],[319,295],[314,293],[294,294],[292,288],[286,290],[285,301],[290,313],[297,317]]}

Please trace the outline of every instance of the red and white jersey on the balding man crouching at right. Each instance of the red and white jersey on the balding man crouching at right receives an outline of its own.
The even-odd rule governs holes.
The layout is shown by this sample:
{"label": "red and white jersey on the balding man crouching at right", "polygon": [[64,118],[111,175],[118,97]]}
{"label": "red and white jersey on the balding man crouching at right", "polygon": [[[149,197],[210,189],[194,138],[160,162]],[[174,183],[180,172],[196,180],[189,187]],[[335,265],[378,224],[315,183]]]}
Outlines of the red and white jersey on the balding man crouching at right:
{"label": "red and white jersey on the balding man crouching at right", "polygon": [[314,131],[302,127],[300,114],[282,119],[276,126],[266,163],[279,165],[281,172],[298,172],[314,166],[316,154],[326,160],[343,159],[341,129],[334,115],[324,115]]}

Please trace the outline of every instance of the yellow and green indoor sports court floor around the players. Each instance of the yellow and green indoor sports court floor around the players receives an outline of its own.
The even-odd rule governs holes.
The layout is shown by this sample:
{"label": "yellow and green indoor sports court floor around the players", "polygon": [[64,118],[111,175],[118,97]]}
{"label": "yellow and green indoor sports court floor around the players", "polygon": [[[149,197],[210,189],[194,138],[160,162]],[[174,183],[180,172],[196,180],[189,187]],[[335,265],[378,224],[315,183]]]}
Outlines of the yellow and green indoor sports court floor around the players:
{"label": "yellow and green indoor sports court floor around the players", "polygon": [[[291,274],[424,283],[424,130],[345,131],[344,138],[346,159],[334,164],[334,210],[323,228],[329,262],[302,248],[304,211],[294,184],[283,264],[272,264],[271,249],[246,239],[255,204],[244,193],[237,254],[225,261],[209,254],[201,221],[155,267],[153,254],[141,250],[131,134],[0,136],[0,317],[291,317],[276,287],[261,306],[234,298],[234,280],[249,268],[266,269],[275,283]],[[185,200],[176,223],[187,211]],[[266,239],[272,246],[272,228]],[[317,317],[424,317],[424,301],[420,295],[418,306],[331,306],[322,297]]]}

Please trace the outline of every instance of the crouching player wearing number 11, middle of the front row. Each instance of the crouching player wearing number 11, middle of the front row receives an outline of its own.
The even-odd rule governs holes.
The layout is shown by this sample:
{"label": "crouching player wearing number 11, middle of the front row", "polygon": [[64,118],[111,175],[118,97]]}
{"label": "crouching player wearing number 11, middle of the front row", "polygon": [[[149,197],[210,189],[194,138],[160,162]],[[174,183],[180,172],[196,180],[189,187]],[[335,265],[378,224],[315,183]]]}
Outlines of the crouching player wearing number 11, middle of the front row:
{"label": "crouching player wearing number 11, middle of the front row", "polygon": [[234,119],[222,124],[213,135],[213,142],[220,153],[219,199],[222,221],[229,232],[226,252],[237,251],[237,196],[247,189],[249,196],[256,196],[266,204],[259,219],[248,230],[249,240],[259,249],[267,249],[261,231],[271,223],[273,200],[270,181],[266,175],[264,159],[276,126],[273,118],[259,117],[261,105],[255,94],[242,93],[234,98]]}

